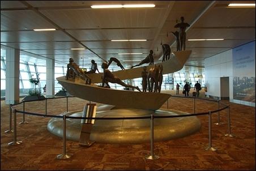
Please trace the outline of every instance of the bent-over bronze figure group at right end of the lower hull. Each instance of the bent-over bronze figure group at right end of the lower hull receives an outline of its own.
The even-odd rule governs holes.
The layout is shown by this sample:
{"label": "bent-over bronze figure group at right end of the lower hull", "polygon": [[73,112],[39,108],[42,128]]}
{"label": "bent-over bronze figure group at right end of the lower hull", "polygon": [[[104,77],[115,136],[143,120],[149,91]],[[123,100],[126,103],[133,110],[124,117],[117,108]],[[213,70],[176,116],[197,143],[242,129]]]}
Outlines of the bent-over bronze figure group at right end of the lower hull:
{"label": "bent-over bronze figure group at right end of the lower hull", "polygon": [[[153,68],[151,68],[150,71],[148,71],[147,81],[148,81],[148,91],[160,92],[161,84],[163,82],[163,65],[155,65]],[[154,86],[154,91],[153,91],[153,86]]]}

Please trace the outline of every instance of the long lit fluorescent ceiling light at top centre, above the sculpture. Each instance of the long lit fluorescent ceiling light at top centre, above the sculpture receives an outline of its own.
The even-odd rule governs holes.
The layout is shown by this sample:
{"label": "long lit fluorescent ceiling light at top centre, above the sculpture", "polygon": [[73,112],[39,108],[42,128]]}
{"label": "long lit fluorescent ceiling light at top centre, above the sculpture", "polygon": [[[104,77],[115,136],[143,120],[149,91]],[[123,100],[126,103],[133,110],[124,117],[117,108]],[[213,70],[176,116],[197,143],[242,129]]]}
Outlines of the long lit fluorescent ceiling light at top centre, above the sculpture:
{"label": "long lit fluorescent ceiling light at top centre, above the sculpture", "polygon": [[155,6],[155,4],[92,5],[91,8],[150,8]]}

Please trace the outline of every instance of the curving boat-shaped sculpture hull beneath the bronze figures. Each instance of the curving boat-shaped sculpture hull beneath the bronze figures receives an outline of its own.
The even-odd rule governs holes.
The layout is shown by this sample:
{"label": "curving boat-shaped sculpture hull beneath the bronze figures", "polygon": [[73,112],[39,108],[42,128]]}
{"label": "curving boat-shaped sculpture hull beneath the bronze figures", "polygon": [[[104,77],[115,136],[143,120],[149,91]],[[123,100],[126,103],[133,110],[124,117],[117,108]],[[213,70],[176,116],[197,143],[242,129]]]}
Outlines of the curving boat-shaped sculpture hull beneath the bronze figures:
{"label": "curving boat-shaped sculpture hull beneath the bronze figures", "polygon": [[[169,60],[160,63],[163,65],[163,74],[181,70],[189,58],[191,50],[173,53],[174,55]],[[150,70],[151,67],[153,66],[147,66],[147,70]],[[113,74],[121,80],[125,80],[141,77],[142,71],[143,67],[137,67],[114,71]],[[79,78],[79,76],[76,76],[75,80],[66,80],[65,76],[56,79],[73,96],[102,104],[114,105],[118,108],[157,110],[170,97],[169,94],[165,93],[125,91],[99,87],[94,83],[101,83],[101,76],[103,76],[103,73],[89,74],[89,77],[92,79],[92,84],[90,85],[85,84],[84,80]]]}

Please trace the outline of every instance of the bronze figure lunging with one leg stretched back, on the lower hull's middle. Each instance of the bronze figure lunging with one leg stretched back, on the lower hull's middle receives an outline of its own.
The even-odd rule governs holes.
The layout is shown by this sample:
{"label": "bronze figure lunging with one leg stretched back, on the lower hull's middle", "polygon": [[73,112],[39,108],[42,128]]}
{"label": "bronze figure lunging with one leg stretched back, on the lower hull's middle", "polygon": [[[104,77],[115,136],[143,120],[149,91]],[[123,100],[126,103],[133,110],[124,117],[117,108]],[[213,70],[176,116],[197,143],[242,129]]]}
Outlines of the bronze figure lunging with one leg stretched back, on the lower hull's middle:
{"label": "bronze figure lunging with one leg stretched back, on the lower hull's middle", "polygon": [[[120,78],[114,76],[114,74],[112,74],[112,72],[110,72],[108,70],[108,63],[103,62],[101,67],[103,68],[103,79],[102,79],[102,87],[104,87],[104,84],[106,84],[106,88],[110,88],[108,82],[110,83],[117,83],[120,84],[123,87],[129,87],[129,88],[135,88],[138,91],[140,91],[139,87],[135,87],[135,86],[131,86],[131,85],[127,85],[125,83],[122,82],[122,80],[120,80]],[[141,92],[141,91],[140,91]]]}

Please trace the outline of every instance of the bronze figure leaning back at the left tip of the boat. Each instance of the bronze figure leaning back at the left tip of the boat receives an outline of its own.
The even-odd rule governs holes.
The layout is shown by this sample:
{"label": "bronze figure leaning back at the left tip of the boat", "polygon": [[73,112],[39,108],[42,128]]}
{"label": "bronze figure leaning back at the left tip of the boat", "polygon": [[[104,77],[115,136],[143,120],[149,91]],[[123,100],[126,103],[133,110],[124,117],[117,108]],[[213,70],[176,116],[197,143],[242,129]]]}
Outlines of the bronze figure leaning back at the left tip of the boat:
{"label": "bronze figure leaning back at the left tip of the boat", "polygon": [[91,78],[84,74],[84,71],[80,69],[80,67],[74,62],[73,58],[69,58],[69,64],[67,65],[67,74],[66,79],[69,79],[70,77],[72,79],[75,79],[75,75],[80,76],[86,81],[86,84],[91,84]]}

